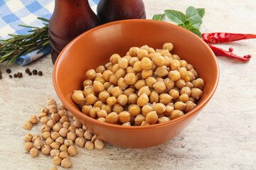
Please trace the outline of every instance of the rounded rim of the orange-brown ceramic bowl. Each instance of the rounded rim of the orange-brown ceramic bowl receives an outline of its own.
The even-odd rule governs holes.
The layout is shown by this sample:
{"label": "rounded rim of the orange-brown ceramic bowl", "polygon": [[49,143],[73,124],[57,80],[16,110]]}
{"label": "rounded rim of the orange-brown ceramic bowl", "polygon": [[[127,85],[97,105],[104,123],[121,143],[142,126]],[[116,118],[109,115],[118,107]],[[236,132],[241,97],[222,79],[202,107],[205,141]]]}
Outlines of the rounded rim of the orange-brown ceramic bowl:
{"label": "rounded rim of the orange-brown ceramic bowl", "polygon": [[[60,55],[63,55],[63,53],[65,52],[65,50],[70,46],[70,45],[73,45],[76,41],[78,41],[80,38],[82,38],[82,36],[86,35],[86,34],[89,34],[95,30],[99,30],[101,28],[105,28],[105,27],[108,27],[108,26],[113,26],[113,25],[117,25],[119,23],[136,23],[136,22],[145,22],[145,23],[160,23],[162,25],[171,25],[171,26],[174,26],[178,29],[183,29],[184,31],[187,31],[189,33],[191,33],[191,31],[189,30],[186,30],[185,28],[181,28],[180,26],[176,26],[172,23],[166,23],[164,21],[154,21],[154,20],[149,20],[149,19],[128,19],[128,20],[122,20],[122,21],[113,21],[113,22],[110,22],[110,23],[105,23],[105,24],[102,24],[100,26],[97,26],[95,28],[92,28],[90,30],[87,30],[85,31],[85,33],[82,33],[80,35],[78,35],[78,37],[74,38],[73,40],[71,40],[68,45],[66,45],[63,50],[60,52]],[[91,118],[90,116],[88,115],[85,115],[83,114],[81,111],[78,111],[74,106],[71,106],[70,103],[65,99],[65,96],[63,96],[63,94],[60,93],[59,91],[59,86],[58,86],[58,83],[57,83],[57,75],[56,75],[56,72],[58,71],[58,62],[60,61],[60,57],[57,58],[57,60],[55,61],[55,64],[54,64],[54,67],[53,67],[53,86],[54,86],[54,89],[55,89],[55,92],[57,94],[57,96],[60,98],[60,101],[64,104],[64,106],[68,109],[68,111],[70,111],[71,113],[75,113],[74,115],[78,114],[80,115],[80,117],[83,117],[85,118],[87,121],[91,121],[93,124],[97,124],[97,125],[100,125],[100,126],[103,126],[105,128],[112,128],[112,129],[122,129],[122,130],[148,130],[148,129],[153,129],[153,128],[161,128],[161,127],[164,127],[164,126],[168,126],[168,125],[171,125],[171,124],[174,124],[174,123],[178,123],[178,122],[181,122],[183,119],[187,119],[187,118],[190,118],[192,115],[198,113],[199,111],[201,111],[201,109],[206,106],[206,103],[208,103],[208,101],[210,101],[210,98],[212,98],[213,94],[215,93],[216,89],[217,89],[217,86],[218,86],[218,82],[219,82],[219,79],[220,79],[220,68],[219,68],[219,65],[218,65],[218,61],[217,61],[217,58],[215,57],[214,53],[212,50],[210,50],[210,47],[208,47],[208,45],[206,44],[206,42],[204,42],[201,38],[198,37],[198,35],[194,34],[194,33],[191,33],[192,36],[194,36],[195,38],[197,38],[199,41],[202,42],[203,46],[206,47],[206,50],[208,52],[210,52],[211,55],[213,55],[213,62],[214,64],[216,65],[216,68],[217,68],[217,77],[216,77],[216,81],[215,81],[215,84],[213,86],[213,90],[210,91],[209,94],[207,94],[206,98],[204,98],[203,101],[201,101],[201,103],[199,103],[195,108],[193,108],[192,111],[189,111],[188,113],[174,119],[174,120],[169,120],[165,123],[157,123],[157,124],[154,124],[154,125],[144,125],[144,126],[122,126],[122,125],[114,125],[114,124],[111,124],[111,123],[102,123],[101,121],[99,120],[96,120],[94,118]]]}

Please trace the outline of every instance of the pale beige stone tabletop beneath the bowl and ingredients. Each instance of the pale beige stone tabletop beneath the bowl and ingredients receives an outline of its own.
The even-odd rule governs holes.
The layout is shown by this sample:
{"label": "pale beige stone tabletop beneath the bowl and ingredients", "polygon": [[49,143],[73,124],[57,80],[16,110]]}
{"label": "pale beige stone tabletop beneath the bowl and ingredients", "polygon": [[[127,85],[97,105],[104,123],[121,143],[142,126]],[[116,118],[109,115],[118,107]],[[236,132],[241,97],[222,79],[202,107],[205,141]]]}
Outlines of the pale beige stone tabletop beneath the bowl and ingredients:
{"label": "pale beige stone tabletop beneath the bowl and ingredients", "polygon": [[[144,0],[147,18],[164,9],[186,11],[188,6],[206,8],[202,33],[256,33],[256,2]],[[102,150],[78,148],[70,169],[256,169],[256,40],[217,45],[240,56],[251,54],[250,62],[218,57],[220,82],[208,105],[173,140],[146,149],[126,149],[105,143]],[[26,67],[12,65],[21,79],[9,79],[0,64],[0,169],[49,169],[52,158],[32,158],[23,149],[22,128],[30,115],[38,115],[46,98],[58,100],[53,89],[50,55],[29,64],[43,76],[28,76]],[[40,123],[30,131],[39,133]],[[58,169],[62,169],[58,166]]]}

